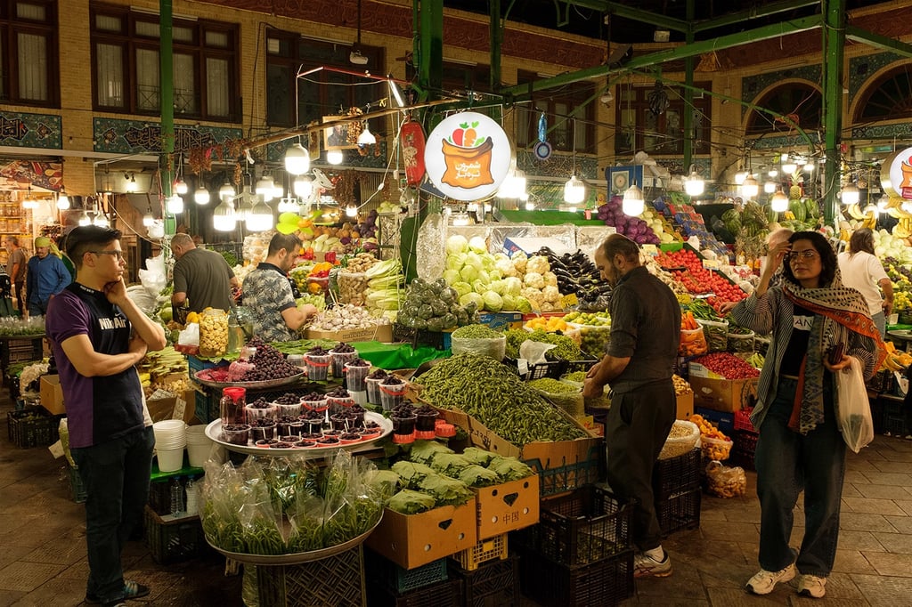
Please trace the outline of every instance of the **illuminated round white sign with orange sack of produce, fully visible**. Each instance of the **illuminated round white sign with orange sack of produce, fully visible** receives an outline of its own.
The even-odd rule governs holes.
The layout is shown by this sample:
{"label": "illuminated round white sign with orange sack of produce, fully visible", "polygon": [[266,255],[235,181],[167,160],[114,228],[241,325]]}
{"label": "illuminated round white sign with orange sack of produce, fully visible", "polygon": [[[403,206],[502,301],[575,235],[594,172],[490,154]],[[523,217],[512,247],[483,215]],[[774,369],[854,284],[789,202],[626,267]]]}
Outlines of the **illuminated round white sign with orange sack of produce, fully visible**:
{"label": "illuminated round white sign with orange sack of produce, fully visible", "polygon": [[510,172],[513,149],[501,125],[477,112],[445,118],[430,131],[424,165],[434,186],[457,201],[492,195]]}

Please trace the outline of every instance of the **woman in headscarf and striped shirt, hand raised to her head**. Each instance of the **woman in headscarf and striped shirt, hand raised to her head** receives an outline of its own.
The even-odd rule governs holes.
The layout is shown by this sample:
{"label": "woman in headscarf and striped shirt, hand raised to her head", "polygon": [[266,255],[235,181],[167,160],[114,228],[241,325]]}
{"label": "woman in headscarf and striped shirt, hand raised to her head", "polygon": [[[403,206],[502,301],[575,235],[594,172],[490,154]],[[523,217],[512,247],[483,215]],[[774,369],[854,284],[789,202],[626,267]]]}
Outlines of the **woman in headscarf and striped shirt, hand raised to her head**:
{"label": "woman in headscarf and striped shirt, hand raised to her head", "polygon": [[[770,287],[780,266],[782,283]],[[798,575],[799,594],[821,598],[833,570],[845,474],[835,374],[851,356],[865,378],[874,375],[883,342],[865,299],[843,286],[833,249],[814,231],[796,232],[770,249],[760,285],[731,315],[758,334],[772,334],[751,413],[760,431],[754,463],[761,571],[745,588],[768,594]],[[789,539],[802,490],[804,535],[796,551]]]}

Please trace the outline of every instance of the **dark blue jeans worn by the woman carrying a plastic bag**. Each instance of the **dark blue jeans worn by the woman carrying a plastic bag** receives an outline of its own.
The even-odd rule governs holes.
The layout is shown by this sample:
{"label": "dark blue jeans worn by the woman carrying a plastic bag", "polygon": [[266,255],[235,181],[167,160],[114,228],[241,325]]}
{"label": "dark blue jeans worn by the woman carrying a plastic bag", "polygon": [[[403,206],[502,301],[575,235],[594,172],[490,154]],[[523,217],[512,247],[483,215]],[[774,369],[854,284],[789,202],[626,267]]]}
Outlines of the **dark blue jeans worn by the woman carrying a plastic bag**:
{"label": "dark blue jeans worn by the woman carrying a plastic bag", "polygon": [[[828,374],[827,374],[828,375]],[[779,377],[763,418],[754,463],[760,498],[760,566],[780,571],[795,563],[803,574],[827,577],[839,540],[839,507],[845,476],[845,441],[834,415],[833,389],[824,380],[824,423],[802,435],[788,427],[798,382]],[[794,507],[804,491],[804,537],[789,546]]]}

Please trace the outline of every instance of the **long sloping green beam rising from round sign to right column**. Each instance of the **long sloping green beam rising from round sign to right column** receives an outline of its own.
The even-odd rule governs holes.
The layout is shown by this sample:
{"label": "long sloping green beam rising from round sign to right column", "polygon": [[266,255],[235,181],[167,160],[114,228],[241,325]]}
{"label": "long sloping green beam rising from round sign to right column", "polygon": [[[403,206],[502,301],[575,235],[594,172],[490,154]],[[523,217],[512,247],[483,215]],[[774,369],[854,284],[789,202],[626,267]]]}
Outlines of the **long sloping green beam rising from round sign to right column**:
{"label": "long sloping green beam rising from round sign to right column", "polygon": [[666,48],[655,53],[644,55],[643,57],[633,57],[624,66],[595,66],[586,67],[568,74],[543,78],[536,80],[531,84],[516,85],[515,87],[504,88],[501,93],[504,96],[513,96],[513,99],[524,99],[532,96],[532,93],[548,88],[564,87],[568,84],[590,80],[593,78],[605,77],[608,74],[623,72],[630,69],[640,69],[660,65],[667,61],[677,61],[687,57],[697,57],[704,53],[720,51],[732,46],[741,46],[751,44],[752,42],[761,42],[789,34],[797,34],[822,25],[821,15],[811,15],[793,19],[786,23],[772,24],[770,26],[761,26],[746,32],[730,34],[728,36],[719,36],[712,40],[701,40],[686,46],[677,46]]}

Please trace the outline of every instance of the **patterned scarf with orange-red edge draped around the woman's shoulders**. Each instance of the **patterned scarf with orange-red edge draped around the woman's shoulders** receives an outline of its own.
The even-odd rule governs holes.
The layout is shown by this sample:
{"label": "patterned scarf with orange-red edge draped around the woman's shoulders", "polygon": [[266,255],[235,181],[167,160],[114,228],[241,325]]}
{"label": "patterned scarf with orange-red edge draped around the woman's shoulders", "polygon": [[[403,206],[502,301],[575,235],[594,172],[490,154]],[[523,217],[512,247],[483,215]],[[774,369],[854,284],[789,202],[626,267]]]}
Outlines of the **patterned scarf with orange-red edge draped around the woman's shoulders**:
{"label": "patterned scarf with orange-red edge draped around the woman's shoulders", "polygon": [[876,343],[876,365],[879,368],[886,358],[883,338],[871,320],[864,299],[855,289],[843,286],[839,270],[829,286],[805,289],[799,284],[782,281],[782,293],[793,304],[810,310],[814,324],[808,336],[807,353],[802,363],[803,373],[795,395],[795,408],[789,426],[806,435],[817,424],[824,422],[824,355],[836,344],[845,345],[848,354],[849,332],[870,337]]}

